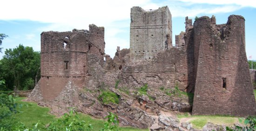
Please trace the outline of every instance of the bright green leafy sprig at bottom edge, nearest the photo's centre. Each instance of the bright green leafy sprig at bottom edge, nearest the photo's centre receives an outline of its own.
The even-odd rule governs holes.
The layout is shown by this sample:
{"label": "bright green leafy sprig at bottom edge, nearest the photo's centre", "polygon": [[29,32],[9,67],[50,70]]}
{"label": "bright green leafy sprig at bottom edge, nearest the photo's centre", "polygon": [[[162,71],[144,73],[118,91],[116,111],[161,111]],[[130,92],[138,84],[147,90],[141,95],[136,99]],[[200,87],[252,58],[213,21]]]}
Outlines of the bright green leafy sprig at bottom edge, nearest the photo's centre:
{"label": "bright green leafy sprig at bottom edge, nearest the photo's centre", "polygon": [[108,112],[109,115],[105,118],[108,120],[104,123],[104,129],[101,131],[119,131],[119,120],[118,116],[112,112]]}

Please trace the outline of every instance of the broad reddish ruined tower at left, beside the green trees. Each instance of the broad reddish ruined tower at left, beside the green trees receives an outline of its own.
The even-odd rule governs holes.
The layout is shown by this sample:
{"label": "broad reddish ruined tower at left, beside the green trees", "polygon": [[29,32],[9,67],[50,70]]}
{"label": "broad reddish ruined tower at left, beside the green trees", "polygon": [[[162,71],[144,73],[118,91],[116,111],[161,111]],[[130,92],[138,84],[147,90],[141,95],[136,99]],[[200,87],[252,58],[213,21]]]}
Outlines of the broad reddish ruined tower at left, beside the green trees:
{"label": "broad reddish ruined tower at left, beside the green trees", "polygon": [[104,27],[89,28],[41,33],[41,79],[35,90],[40,89],[44,99],[53,100],[69,86],[75,90],[88,83],[88,54],[103,60]]}

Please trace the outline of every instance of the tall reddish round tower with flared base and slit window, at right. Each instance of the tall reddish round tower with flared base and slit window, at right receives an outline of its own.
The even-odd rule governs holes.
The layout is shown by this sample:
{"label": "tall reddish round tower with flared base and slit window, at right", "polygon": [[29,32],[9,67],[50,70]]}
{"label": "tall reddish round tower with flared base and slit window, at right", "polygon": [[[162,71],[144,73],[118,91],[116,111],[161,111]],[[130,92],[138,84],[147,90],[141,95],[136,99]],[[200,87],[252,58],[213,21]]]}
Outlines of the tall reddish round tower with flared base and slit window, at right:
{"label": "tall reddish round tower with flared base and slit window, at right", "polygon": [[[245,20],[230,15],[227,24],[200,17],[194,23],[194,115],[255,115],[256,104],[245,53]],[[222,29],[224,29],[222,32]]]}

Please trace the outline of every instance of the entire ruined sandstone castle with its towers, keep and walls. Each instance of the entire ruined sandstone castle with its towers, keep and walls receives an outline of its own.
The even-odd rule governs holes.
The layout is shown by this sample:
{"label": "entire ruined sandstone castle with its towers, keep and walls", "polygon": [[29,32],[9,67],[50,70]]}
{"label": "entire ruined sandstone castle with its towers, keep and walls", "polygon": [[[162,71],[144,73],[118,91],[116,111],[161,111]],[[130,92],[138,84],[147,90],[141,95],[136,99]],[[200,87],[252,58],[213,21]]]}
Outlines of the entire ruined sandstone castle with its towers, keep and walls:
{"label": "entire ruined sandstone castle with its towers, keep and walls", "polygon": [[[140,124],[135,124],[138,121],[126,117],[129,113],[134,115],[129,111],[135,109],[126,112],[121,108],[132,108],[133,100],[110,108],[101,105],[96,96],[81,92],[85,88],[115,87],[119,80],[120,87],[129,89],[148,84],[155,94],[160,92],[159,87],[175,86],[194,92],[193,115],[255,115],[244,18],[230,15],[226,24],[217,25],[215,16],[203,16],[192,25],[186,17],[185,32],[175,36],[175,46],[171,42],[171,21],[168,7],[148,11],[132,7],[130,48],[117,47],[114,59],[104,52],[103,27],[90,25],[89,31],[41,33],[41,79],[29,98],[48,103],[55,112],[79,106],[80,111],[94,116],[116,111],[126,122],[124,125],[152,125],[153,118],[147,115],[141,119],[150,119],[150,123],[138,118]],[[157,114],[163,109],[175,110],[175,100],[165,98],[164,94],[155,95],[155,102],[151,103],[143,99],[143,108],[136,111],[145,109]],[[178,111],[191,110],[192,104],[179,102]]]}

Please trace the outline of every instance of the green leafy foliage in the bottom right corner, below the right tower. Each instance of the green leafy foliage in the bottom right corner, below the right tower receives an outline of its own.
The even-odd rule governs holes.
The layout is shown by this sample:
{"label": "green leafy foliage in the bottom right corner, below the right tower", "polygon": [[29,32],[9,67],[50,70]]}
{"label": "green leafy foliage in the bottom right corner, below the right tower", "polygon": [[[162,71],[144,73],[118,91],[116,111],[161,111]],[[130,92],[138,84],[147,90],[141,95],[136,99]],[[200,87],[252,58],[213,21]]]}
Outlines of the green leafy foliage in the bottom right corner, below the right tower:
{"label": "green leafy foliage in the bottom right corner, below the right tower", "polygon": [[226,131],[256,131],[256,116],[246,118],[244,120],[244,124],[246,124],[247,126],[241,127],[236,125],[235,129],[226,126]]}

